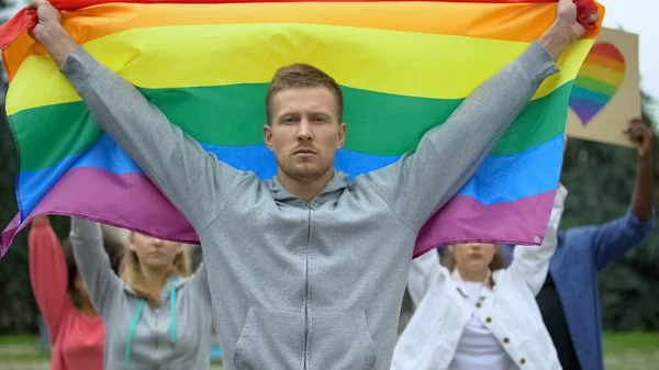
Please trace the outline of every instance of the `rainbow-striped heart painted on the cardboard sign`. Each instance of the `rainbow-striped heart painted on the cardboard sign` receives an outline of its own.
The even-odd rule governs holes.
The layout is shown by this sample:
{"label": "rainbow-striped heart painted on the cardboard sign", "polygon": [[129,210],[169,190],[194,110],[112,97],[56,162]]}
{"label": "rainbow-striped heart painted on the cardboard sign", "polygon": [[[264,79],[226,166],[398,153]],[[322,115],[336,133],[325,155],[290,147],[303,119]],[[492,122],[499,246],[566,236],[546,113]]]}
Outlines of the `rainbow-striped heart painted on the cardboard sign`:
{"label": "rainbow-striped heart painted on the cardboard sign", "polygon": [[585,126],[618,90],[625,79],[625,58],[611,43],[596,43],[579,70],[570,108]]}

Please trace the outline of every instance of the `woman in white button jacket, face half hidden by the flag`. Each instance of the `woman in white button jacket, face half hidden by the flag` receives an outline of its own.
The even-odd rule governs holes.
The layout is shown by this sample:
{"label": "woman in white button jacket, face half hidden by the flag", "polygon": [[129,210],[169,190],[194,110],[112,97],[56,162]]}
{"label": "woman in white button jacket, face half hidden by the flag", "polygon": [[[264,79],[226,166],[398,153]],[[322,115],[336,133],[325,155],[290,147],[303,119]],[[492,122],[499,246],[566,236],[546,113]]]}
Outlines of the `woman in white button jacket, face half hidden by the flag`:
{"label": "woman in white button jacket, face half hidden by the flag", "polygon": [[[557,190],[541,246],[515,248],[495,269],[496,246],[450,246],[455,265],[437,253],[412,261],[407,289],[417,305],[393,354],[392,370],[560,370],[535,295],[547,276],[567,190]],[[494,270],[492,270],[494,268]]]}

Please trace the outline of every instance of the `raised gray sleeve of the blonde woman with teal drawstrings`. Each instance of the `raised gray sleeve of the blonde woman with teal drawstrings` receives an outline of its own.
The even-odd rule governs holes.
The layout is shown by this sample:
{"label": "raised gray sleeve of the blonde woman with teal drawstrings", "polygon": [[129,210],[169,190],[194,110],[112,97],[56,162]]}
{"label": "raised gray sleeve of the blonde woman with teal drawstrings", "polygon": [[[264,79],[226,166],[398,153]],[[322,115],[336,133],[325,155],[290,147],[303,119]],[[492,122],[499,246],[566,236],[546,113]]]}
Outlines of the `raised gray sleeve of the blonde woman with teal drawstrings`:
{"label": "raised gray sleeve of the blonde woman with teal drawstrings", "polygon": [[110,257],[103,249],[101,225],[71,217],[71,247],[94,310],[105,316],[113,300],[123,292],[123,281],[112,271]]}

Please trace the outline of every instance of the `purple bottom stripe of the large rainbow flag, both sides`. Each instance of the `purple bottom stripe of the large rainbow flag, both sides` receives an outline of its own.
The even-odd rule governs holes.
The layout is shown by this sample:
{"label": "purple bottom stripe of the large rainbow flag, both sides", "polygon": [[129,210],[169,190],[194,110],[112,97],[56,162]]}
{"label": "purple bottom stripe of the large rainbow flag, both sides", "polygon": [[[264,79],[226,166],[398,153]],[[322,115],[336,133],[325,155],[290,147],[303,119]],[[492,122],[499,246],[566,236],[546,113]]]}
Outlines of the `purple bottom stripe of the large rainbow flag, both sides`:
{"label": "purple bottom stripe of the large rainbow flag, both sides", "polygon": [[[456,197],[422,228],[414,256],[456,240],[465,243],[471,235],[482,235],[481,239],[471,242],[537,245],[535,238],[544,238],[549,221],[549,215],[544,215],[541,210],[551,206],[554,193],[549,191],[494,204],[481,204],[471,197]],[[135,208],[135,204],[149,206]],[[1,255],[15,233],[32,217],[42,214],[77,216],[159,238],[199,244],[199,237],[186,217],[142,173],[115,175],[91,167],[68,171],[21,225],[16,216],[2,232]]]}

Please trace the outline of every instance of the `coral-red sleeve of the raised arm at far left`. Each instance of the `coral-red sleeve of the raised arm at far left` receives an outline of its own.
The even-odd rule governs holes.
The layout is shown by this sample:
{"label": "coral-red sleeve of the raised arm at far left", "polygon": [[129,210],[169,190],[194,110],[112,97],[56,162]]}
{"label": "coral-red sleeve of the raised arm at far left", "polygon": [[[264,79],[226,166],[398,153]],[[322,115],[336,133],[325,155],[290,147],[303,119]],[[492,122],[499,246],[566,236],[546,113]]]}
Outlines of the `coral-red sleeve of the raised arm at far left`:
{"label": "coral-red sleeve of the raised arm at far left", "polygon": [[48,326],[51,341],[55,341],[63,321],[76,310],[68,295],[68,268],[48,216],[35,217],[31,224],[27,236],[30,283]]}

